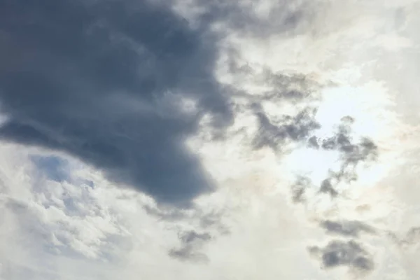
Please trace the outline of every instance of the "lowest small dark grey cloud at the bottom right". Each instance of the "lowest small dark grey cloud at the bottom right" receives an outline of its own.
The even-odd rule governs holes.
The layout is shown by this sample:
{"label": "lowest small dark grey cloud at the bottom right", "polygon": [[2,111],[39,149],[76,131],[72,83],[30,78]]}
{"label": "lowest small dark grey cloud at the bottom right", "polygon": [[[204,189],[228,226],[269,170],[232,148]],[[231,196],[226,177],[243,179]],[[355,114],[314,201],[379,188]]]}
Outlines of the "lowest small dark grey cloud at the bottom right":
{"label": "lowest small dark grey cloud at the bottom right", "polygon": [[354,272],[370,272],[374,262],[356,241],[330,241],[324,247],[312,246],[309,252],[319,258],[325,268],[346,266]]}

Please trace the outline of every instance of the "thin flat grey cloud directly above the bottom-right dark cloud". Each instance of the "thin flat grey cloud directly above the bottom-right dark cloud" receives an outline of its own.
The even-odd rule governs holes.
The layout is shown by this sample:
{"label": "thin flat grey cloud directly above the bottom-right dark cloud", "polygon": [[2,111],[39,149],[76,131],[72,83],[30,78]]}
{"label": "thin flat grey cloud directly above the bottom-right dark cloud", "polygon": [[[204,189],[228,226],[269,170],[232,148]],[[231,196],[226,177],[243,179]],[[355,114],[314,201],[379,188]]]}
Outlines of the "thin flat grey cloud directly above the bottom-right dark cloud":
{"label": "thin flat grey cloud directly above the bottom-right dark cloud", "polygon": [[360,233],[374,233],[374,229],[370,225],[366,225],[360,221],[323,221],[321,227],[328,233],[334,235],[344,235],[358,237]]}

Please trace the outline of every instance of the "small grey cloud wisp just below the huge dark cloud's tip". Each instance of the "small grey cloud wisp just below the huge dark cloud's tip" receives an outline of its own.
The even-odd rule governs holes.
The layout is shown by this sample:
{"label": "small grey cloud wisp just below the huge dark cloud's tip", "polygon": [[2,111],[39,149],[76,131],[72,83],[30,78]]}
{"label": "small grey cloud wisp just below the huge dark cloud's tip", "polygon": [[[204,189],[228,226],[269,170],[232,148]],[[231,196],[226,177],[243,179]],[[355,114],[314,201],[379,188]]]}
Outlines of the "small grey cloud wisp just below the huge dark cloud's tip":
{"label": "small grey cloud wisp just below the huge dark cloud's tip", "polygon": [[184,232],[180,235],[181,247],[172,248],[169,255],[179,260],[188,260],[193,262],[206,262],[208,260],[204,253],[198,250],[203,244],[211,239],[208,233],[197,233],[195,231]]}

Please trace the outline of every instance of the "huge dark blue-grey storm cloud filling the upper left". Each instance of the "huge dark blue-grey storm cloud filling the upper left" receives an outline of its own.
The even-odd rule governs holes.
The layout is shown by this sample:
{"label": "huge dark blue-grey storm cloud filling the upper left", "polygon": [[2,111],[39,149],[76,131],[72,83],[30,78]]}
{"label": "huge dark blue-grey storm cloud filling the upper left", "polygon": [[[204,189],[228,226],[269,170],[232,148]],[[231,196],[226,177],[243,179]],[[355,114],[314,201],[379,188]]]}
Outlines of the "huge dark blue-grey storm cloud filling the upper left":
{"label": "huge dark blue-grey storm cloud filling the upper left", "polygon": [[65,151],[159,202],[211,190],[181,143],[203,113],[218,127],[232,118],[204,27],[148,1],[6,0],[0,31],[1,139]]}

